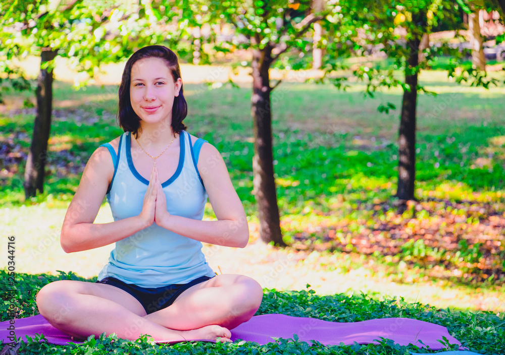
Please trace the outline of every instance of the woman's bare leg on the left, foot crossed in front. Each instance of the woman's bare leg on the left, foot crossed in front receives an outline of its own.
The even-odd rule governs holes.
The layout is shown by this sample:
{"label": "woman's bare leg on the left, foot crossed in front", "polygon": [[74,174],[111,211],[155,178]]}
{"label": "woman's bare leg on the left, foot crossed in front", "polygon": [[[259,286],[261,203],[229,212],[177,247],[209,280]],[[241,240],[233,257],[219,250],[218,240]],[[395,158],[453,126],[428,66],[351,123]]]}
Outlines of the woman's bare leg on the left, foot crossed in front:
{"label": "woman's bare leg on the left, foot crossed in front", "polygon": [[228,340],[231,333],[218,325],[181,331],[161,326],[143,316],[140,303],[115,286],[62,280],[45,285],[37,294],[40,314],[63,332],[87,338],[89,335],[116,333],[120,338],[136,340],[149,335],[155,341],[184,339]]}

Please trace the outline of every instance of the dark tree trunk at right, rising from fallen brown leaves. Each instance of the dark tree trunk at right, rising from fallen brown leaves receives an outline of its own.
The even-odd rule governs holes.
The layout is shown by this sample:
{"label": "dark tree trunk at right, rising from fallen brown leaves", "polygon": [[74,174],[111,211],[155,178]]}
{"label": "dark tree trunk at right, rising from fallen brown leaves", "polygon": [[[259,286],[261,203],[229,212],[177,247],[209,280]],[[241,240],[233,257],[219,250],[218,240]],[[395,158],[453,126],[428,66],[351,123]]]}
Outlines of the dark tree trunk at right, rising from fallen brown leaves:
{"label": "dark tree trunk at right, rising from fallen brown leaves", "polygon": [[415,200],[414,182],[416,179],[416,105],[419,64],[419,37],[410,39],[410,49],[405,68],[405,84],[410,90],[403,91],[401,102],[400,129],[398,137],[398,190],[400,200]]}

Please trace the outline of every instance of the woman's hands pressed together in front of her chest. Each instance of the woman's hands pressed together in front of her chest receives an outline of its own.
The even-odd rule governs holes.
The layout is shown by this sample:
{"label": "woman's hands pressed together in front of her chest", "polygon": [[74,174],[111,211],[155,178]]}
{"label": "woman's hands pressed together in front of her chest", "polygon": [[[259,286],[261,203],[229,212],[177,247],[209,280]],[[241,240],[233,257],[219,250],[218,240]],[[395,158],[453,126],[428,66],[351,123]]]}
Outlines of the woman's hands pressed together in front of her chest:
{"label": "woman's hands pressed together in front of her chest", "polygon": [[170,217],[167,211],[167,199],[161,182],[158,179],[158,168],[153,165],[149,185],[144,195],[144,202],[142,203],[142,211],[139,216],[145,221],[147,226],[156,223],[162,225]]}

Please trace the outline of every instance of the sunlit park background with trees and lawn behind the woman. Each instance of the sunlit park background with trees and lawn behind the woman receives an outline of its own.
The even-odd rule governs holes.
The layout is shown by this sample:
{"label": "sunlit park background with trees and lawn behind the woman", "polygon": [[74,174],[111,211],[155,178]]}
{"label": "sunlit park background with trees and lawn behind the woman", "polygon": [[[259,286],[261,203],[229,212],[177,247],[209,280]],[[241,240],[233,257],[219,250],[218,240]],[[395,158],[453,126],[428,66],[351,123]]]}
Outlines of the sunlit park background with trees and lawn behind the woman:
{"label": "sunlit park background with trees and lawn behind the woman", "polygon": [[[87,159],[122,133],[127,58],[162,44],[188,132],[221,152],[249,220],[246,248],[204,245],[217,273],[505,311],[502,6],[2,1],[0,232],[16,272],[92,278],[107,262],[113,246],[65,254],[61,225]],[[109,221],[104,201],[95,222]]]}

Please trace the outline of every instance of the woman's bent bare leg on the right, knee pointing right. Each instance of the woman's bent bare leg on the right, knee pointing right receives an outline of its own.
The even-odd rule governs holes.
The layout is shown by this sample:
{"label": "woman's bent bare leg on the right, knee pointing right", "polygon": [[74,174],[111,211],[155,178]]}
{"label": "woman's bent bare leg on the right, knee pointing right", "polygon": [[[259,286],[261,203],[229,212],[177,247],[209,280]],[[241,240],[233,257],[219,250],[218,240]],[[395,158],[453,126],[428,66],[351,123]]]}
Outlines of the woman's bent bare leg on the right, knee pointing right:
{"label": "woman's bent bare leg on the right, knee pointing right", "polygon": [[195,329],[217,324],[233,329],[248,321],[263,298],[263,289],[254,279],[224,274],[185,290],[175,302],[143,317],[170,329]]}

